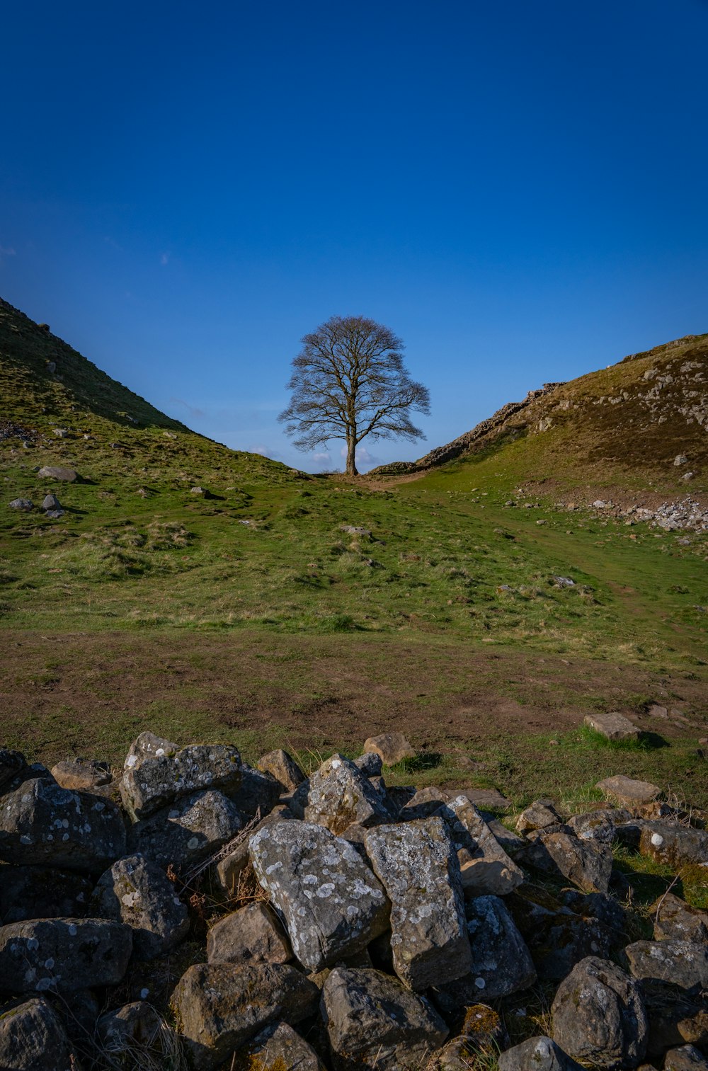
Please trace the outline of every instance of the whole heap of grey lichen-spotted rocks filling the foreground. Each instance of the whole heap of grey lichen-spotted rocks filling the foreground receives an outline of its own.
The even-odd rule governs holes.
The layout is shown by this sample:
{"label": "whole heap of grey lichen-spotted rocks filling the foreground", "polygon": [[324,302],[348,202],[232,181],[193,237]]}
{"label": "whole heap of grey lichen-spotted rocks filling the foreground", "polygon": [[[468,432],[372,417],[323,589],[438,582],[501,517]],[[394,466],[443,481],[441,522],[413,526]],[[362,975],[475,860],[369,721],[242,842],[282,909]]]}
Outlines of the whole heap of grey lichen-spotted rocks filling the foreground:
{"label": "whole heap of grey lichen-spotted rocks filling the foreground", "polygon": [[[668,892],[630,936],[612,853],[705,866],[708,832],[627,779],[585,814],[539,800],[514,832],[471,794],[387,787],[406,750],[372,738],[305,778],[285,752],[253,769],[142,733],[115,780],[0,751],[0,1067],[181,1047],[196,1069],[708,1068],[708,912]],[[220,905],[206,947],[197,874]],[[124,1002],[181,954],[171,1027]],[[537,983],[552,1037],[512,1045]]]}

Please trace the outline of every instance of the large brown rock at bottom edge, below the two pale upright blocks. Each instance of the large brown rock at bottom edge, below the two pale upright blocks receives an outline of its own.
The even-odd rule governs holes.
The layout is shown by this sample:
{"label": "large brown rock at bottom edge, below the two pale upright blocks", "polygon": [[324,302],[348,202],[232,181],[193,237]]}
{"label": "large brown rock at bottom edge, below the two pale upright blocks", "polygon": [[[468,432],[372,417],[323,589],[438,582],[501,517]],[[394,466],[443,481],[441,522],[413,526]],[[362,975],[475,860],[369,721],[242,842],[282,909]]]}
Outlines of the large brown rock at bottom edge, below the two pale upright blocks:
{"label": "large brown rock at bottom edge, below the two pale upright blocks", "polygon": [[321,1008],[335,1071],[413,1071],[448,1036],[424,997],[378,970],[336,967]]}

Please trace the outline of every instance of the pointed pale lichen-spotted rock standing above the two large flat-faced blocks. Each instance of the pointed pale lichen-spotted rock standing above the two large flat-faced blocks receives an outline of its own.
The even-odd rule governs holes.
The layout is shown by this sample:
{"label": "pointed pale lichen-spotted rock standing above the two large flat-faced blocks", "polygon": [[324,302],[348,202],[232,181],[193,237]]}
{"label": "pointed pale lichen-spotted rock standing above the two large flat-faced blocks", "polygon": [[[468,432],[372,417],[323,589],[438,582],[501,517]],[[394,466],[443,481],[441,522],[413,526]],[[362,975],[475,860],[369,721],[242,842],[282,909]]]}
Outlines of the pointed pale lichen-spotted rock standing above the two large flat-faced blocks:
{"label": "pointed pale lichen-spotted rock standing above the two large flat-faced blocks", "polygon": [[368,779],[342,755],[328,758],[310,778],[305,820],[340,835],[348,826],[376,826],[389,814]]}

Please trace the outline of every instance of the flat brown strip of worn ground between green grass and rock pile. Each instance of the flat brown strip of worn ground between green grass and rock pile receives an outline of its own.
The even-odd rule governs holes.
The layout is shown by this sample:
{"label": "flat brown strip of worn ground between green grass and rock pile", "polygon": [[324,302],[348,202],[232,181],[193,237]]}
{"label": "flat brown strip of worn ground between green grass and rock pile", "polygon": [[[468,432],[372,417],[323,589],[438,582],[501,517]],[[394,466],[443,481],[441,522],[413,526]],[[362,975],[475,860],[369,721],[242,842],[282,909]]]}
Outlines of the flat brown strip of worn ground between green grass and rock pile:
{"label": "flat brown strip of worn ground between green grass and rock pile", "polygon": [[[275,737],[356,749],[403,730],[419,749],[473,752],[506,734],[562,734],[618,709],[666,739],[705,736],[706,672],[464,648],[437,638],[334,635],[5,632],[0,742],[33,760],[116,761],[150,728],[185,743]],[[668,709],[657,721],[650,702]]]}

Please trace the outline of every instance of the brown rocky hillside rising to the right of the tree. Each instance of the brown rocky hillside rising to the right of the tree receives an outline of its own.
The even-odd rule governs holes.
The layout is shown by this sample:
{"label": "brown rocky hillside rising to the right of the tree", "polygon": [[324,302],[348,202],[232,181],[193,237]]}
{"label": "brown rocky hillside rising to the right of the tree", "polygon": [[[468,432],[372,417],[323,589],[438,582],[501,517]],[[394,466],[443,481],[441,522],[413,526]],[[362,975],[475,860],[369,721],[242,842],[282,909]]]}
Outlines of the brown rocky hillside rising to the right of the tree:
{"label": "brown rocky hillside rising to the right of the tree", "polygon": [[546,383],[418,462],[375,472],[421,472],[499,455],[524,440],[514,456],[527,480],[604,471],[620,481],[705,489],[707,433],[708,335],[687,335],[567,383]]}

